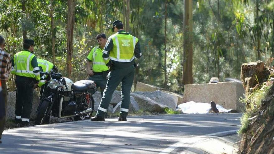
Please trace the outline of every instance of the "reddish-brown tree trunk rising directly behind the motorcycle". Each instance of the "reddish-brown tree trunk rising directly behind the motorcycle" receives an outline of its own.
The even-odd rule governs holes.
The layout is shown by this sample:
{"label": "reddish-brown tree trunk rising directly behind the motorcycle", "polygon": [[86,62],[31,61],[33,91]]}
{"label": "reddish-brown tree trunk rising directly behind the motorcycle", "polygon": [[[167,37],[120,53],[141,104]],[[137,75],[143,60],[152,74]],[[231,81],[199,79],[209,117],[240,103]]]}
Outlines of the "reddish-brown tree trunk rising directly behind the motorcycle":
{"label": "reddish-brown tree trunk rising directly behind the motorcycle", "polygon": [[73,55],[73,26],[75,22],[75,4],[74,0],[68,0],[68,23],[67,23],[67,75],[71,78],[72,66],[71,60]]}

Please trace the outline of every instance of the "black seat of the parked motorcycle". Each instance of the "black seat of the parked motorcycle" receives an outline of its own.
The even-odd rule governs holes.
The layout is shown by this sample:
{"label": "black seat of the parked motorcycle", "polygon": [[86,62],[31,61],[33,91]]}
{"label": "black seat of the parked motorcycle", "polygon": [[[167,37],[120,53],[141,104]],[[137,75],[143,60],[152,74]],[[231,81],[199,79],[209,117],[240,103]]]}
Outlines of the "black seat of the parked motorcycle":
{"label": "black seat of the parked motorcycle", "polygon": [[80,80],[72,85],[74,91],[87,91],[95,87],[95,83],[92,80]]}

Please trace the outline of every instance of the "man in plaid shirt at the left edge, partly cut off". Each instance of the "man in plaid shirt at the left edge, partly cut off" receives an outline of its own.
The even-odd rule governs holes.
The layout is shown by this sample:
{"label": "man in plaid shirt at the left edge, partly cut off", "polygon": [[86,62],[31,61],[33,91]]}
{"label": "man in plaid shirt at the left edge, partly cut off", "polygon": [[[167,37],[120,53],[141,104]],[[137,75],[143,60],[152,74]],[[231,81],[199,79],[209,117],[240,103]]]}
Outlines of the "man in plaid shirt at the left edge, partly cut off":
{"label": "man in plaid shirt at the left edge, partly cut off", "polygon": [[[5,39],[0,35],[0,80],[2,85],[2,96],[0,97],[0,143],[2,133],[4,131],[5,115],[7,108],[7,85],[9,73],[11,71],[12,63],[9,53],[3,51],[5,47]],[[1,94],[0,94],[1,95]]]}

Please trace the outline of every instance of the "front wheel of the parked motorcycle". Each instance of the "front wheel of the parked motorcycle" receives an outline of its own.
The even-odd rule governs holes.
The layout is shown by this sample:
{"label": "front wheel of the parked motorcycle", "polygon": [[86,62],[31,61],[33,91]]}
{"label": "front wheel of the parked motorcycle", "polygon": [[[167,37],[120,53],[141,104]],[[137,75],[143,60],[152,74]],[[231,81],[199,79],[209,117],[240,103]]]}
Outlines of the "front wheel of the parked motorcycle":
{"label": "front wheel of the parked motorcycle", "polygon": [[49,124],[50,117],[46,116],[46,113],[48,112],[48,109],[49,109],[49,104],[50,102],[48,100],[43,100],[35,119],[35,125]]}

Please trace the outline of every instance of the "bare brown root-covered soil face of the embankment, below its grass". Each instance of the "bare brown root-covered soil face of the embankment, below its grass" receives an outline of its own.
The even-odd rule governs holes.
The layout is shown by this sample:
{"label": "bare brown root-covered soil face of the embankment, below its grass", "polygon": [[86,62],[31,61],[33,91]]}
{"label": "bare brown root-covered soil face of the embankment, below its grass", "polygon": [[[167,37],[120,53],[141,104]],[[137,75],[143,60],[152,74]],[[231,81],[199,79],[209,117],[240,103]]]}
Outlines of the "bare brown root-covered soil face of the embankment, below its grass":
{"label": "bare brown root-covered soil face of the embankment, below its grass", "polygon": [[247,131],[242,135],[240,153],[274,153],[274,86],[262,100],[261,107],[248,119]]}

